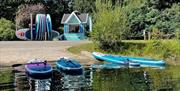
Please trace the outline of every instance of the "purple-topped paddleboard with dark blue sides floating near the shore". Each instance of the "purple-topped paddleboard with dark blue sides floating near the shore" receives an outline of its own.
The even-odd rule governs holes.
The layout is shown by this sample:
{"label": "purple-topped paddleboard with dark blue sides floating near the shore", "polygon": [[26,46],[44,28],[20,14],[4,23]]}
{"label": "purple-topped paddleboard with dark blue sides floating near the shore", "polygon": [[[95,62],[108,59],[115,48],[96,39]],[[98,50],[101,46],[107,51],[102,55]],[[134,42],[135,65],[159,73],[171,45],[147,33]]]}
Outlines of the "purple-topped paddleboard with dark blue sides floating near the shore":
{"label": "purple-topped paddleboard with dark blue sides floating near the shore", "polygon": [[49,79],[52,76],[52,67],[41,59],[32,59],[25,65],[26,74],[33,79]]}

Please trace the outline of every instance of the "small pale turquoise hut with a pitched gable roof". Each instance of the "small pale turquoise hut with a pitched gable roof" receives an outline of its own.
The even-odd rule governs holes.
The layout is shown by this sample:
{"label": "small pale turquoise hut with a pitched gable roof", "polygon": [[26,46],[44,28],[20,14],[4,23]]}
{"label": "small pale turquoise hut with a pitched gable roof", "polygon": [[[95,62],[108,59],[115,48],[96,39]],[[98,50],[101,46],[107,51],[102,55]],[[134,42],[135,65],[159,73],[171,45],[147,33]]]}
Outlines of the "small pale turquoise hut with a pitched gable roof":
{"label": "small pale turquoise hut with a pitched gable roof", "polygon": [[88,13],[74,11],[71,14],[64,14],[61,20],[64,24],[63,40],[83,40],[86,32],[92,31],[92,19]]}

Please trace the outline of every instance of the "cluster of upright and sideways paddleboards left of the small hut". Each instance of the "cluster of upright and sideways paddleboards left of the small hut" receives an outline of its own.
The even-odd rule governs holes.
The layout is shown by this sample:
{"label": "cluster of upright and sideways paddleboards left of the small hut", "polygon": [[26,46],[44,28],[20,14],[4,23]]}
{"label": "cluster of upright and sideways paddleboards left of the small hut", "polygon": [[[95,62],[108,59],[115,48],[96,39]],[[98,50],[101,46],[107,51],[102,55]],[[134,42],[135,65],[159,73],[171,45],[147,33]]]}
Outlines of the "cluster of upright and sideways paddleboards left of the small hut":
{"label": "cluster of upright and sideways paddleboards left of the small hut", "polygon": [[16,36],[22,40],[53,40],[59,33],[52,30],[52,22],[49,14],[37,14],[35,24],[31,15],[30,28],[18,29]]}

